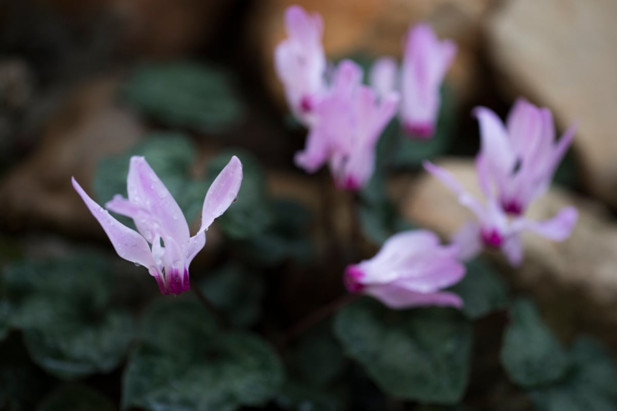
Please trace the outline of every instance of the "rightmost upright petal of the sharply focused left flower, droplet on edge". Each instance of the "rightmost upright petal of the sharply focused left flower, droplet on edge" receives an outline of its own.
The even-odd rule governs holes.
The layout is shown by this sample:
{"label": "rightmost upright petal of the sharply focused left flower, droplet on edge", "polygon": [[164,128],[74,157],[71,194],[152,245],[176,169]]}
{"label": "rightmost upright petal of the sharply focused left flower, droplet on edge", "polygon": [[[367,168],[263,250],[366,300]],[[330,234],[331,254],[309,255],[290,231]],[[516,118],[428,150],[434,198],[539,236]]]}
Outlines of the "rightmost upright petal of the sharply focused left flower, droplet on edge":
{"label": "rightmost upright petal of the sharply focused left flower, droplet on edge", "polygon": [[225,213],[231,203],[236,201],[241,184],[242,163],[238,157],[232,156],[205,194],[198,233],[207,230],[214,219]]}

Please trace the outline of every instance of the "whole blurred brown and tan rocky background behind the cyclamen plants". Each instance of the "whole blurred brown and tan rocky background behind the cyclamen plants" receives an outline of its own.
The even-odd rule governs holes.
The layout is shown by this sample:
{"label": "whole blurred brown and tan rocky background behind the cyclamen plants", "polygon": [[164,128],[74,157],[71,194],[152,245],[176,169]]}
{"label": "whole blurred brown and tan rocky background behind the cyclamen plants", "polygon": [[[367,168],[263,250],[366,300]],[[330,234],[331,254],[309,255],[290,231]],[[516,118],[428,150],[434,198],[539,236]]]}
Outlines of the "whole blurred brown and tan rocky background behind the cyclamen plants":
{"label": "whole blurred brown and tan rocky background behind the cyclamen plants", "polygon": [[[468,187],[476,184],[471,156],[478,147],[471,107],[487,105],[504,115],[522,95],[549,107],[558,130],[578,122],[561,184],[531,211],[544,218],[574,203],[581,216],[573,236],[563,243],[525,238],[520,269],[508,269],[501,256],[491,257],[517,290],[538,298],[546,318],[565,338],[591,332],[616,353],[617,3],[611,0],[4,2],[4,248],[19,244],[44,250],[57,236],[106,243],[69,181],[75,176],[87,186],[99,160],[125,152],[146,131],[165,129],[118,98],[132,70],[148,61],[197,59],[225,67],[246,115],[223,132],[189,130],[200,149],[198,163],[224,147],[244,147],[267,167],[272,193],[298,198],[323,213],[319,182],[292,164],[293,153],[304,144],[303,132],[289,131],[273,71],[273,49],[284,37],[283,10],[293,3],[323,15],[326,53],[332,59],[400,57],[405,31],[421,21],[458,43],[448,78],[458,100],[457,134],[444,153],[448,158],[440,161]],[[467,218],[452,194],[426,174],[406,171],[388,188],[406,218],[444,236]],[[333,218],[334,235],[347,238],[351,228],[344,199],[331,195],[331,211],[341,216]],[[197,260],[201,264],[215,252],[217,235],[209,234],[208,242]],[[296,280],[290,280],[289,290],[300,287]],[[323,292],[327,300],[328,291]]]}

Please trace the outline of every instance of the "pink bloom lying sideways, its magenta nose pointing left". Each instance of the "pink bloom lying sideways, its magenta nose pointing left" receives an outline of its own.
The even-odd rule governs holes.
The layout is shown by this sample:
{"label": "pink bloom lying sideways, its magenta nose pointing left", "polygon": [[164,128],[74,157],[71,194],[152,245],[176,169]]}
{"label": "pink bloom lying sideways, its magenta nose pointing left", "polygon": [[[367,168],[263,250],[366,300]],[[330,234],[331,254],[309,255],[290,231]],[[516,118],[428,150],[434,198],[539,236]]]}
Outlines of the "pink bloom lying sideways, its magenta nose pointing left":
{"label": "pink bloom lying sideways, its magenta nose pointing left", "polygon": [[455,293],[441,291],[459,282],[465,266],[456,246],[443,246],[428,230],[390,237],[375,257],[347,267],[344,282],[352,293],[373,296],[391,308],[461,307]]}

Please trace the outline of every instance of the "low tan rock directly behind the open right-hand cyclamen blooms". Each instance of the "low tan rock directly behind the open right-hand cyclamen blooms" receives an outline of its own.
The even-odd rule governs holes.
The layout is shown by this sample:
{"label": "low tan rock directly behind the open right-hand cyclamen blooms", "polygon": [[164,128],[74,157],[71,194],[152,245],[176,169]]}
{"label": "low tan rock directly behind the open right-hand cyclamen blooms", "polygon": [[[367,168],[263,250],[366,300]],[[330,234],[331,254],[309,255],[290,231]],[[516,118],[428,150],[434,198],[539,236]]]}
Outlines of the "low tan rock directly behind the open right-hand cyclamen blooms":
{"label": "low tan rock directly behind the open right-hand cyclamen blooms", "polygon": [[[449,160],[442,164],[466,188],[479,194],[471,161]],[[416,181],[394,181],[392,193],[400,195],[400,210],[421,226],[449,237],[471,213],[459,205],[440,181],[423,174]],[[556,187],[536,200],[528,216],[542,220],[566,205],[579,209],[579,221],[565,242],[552,242],[525,233],[524,264],[509,269],[499,253],[488,253],[503,267],[520,291],[536,295],[562,332],[586,330],[597,333],[617,347],[617,224],[598,203],[582,200]]]}

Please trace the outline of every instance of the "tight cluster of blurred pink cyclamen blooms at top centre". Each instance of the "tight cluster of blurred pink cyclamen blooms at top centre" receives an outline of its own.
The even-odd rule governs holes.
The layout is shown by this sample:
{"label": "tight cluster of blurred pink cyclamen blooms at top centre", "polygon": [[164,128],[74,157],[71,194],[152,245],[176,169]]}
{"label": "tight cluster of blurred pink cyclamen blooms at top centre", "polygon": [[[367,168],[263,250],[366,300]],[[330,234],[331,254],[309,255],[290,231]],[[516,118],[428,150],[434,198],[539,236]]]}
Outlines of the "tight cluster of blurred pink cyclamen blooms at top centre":
{"label": "tight cluster of blurred pink cyclamen blooms at top centre", "polygon": [[439,41],[428,25],[412,28],[400,70],[394,59],[379,59],[366,86],[353,61],[326,64],[320,15],[291,6],[285,26],[288,38],[275,50],[276,73],[292,113],[309,128],[296,165],[313,173],[328,163],[337,186],[358,190],[373,174],[376,144],[397,110],[411,137],[433,136],[439,87],[456,54],[452,41]]}

